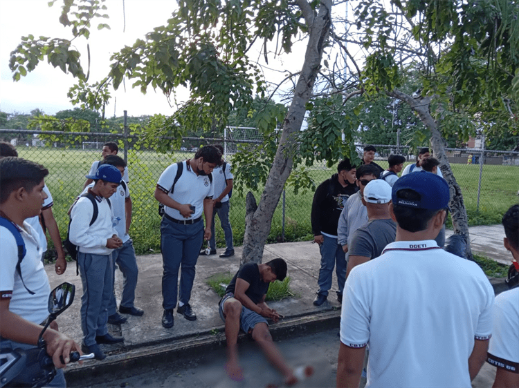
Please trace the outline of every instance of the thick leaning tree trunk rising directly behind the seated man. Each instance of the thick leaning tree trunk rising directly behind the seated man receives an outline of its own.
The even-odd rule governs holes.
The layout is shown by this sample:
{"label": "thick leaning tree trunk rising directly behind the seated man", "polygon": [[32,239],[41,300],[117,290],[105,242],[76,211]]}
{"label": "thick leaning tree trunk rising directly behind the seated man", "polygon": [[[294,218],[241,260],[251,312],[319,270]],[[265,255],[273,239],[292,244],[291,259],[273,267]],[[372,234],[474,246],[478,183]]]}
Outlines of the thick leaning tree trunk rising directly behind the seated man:
{"label": "thick leaning tree trunk rising directly behind the seated man", "polygon": [[277,147],[271,171],[268,173],[260,203],[255,210],[253,210],[255,206],[253,206],[252,193],[247,195],[246,206],[251,213],[246,216],[242,264],[262,262],[265,242],[271,231],[271,220],[280,201],[284,184],[292,171],[292,155],[297,149],[298,132],[301,129],[304,113],[307,110],[306,105],[311,97],[322,52],[329,35],[331,3],[331,0],[322,0],[315,17],[309,8],[300,7],[304,12],[304,19],[307,23],[311,23],[307,51],[289,112],[284,119],[280,145]]}

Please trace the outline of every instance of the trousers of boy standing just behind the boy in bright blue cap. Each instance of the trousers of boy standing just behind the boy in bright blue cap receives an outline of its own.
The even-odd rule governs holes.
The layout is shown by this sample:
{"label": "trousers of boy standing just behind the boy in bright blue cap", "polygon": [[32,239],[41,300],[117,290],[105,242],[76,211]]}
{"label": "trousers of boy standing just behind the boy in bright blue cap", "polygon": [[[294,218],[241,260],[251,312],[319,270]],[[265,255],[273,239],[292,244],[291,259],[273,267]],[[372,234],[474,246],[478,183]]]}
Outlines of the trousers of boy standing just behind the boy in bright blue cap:
{"label": "trousers of boy standing just behind the boy in bright blue cap", "polygon": [[[115,282],[116,265],[122,272],[122,294],[120,298],[120,305],[123,307],[134,307],[135,289],[137,287],[137,278],[139,269],[137,267],[137,259],[135,257],[135,249],[133,240],[129,239],[122,244],[120,248],[111,253],[113,265],[113,282]],[[113,289],[112,282],[112,289]],[[110,302],[108,304],[108,316],[112,316],[117,312],[117,301],[115,292],[111,294]]]}

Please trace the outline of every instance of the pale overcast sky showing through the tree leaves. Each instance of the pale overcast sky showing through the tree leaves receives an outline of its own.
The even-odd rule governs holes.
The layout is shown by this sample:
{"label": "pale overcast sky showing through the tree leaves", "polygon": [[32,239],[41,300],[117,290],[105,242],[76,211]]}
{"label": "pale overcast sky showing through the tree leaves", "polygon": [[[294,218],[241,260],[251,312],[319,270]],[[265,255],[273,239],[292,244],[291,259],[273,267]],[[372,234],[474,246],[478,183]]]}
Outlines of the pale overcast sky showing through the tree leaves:
{"label": "pale overcast sky showing through the tree leaves", "polygon": [[[22,36],[29,34],[39,37],[61,37],[71,39],[70,28],[62,26],[60,17],[63,0],[55,1],[53,7],[48,7],[48,0],[0,0],[0,110],[7,113],[30,113],[35,108],[42,109],[48,115],[54,115],[60,110],[73,109],[74,106],[66,97],[69,88],[77,79],[66,75],[59,68],[53,68],[46,60],[40,62],[37,68],[21,77],[17,82],[12,80],[9,69],[10,52],[15,50]],[[109,70],[109,58],[113,52],[118,52],[125,45],[131,46],[138,38],[143,38],[147,32],[156,26],[162,26],[169,19],[175,0],[125,0],[126,30],[123,31],[123,0],[107,0],[110,19],[97,19],[108,23],[111,30],[97,30],[97,24],[91,27],[89,39],[91,50],[91,75],[89,82],[100,81]],[[343,12],[335,8],[337,12]],[[261,42],[260,42],[261,43]],[[86,40],[76,39],[75,48],[82,54],[82,66],[86,72]],[[275,48],[275,43],[271,45]],[[251,50],[253,59],[262,61],[260,44],[257,50]],[[265,76],[274,84],[282,81],[288,74],[284,70],[298,72],[304,60],[305,41],[297,41],[290,55],[269,56]],[[280,71],[281,70],[281,71]],[[288,90],[292,84],[287,82],[279,90]],[[171,115],[175,107],[170,107],[167,99],[158,90],[156,93],[148,88],[147,95],[139,89],[132,90],[131,82],[126,82],[126,90],[122,86],[111,93],[111,101],[106,108],[107,117],[122,116],[123,110],[130,116],[154,115],[161,113]],[[188,98],[188,93],[177,93],[177,101]],[[279,101],[279,98],[275,98]]]}

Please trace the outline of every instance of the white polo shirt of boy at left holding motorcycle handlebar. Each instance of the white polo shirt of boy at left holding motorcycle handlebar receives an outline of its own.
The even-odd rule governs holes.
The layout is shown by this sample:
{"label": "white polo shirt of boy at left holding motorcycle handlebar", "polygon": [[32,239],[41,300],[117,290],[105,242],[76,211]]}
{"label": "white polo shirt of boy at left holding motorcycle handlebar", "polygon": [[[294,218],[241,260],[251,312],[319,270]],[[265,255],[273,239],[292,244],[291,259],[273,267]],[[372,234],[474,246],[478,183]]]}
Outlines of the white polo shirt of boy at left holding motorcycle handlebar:
{"label": "white polo shirt of boy at left holding motorcycle handlebar", "polygon": [[0,291],[1,299],[8,298],[8,292],[12,291],[9,310],[35,324],[42,323],[48,316],[48,295],[51,286],[48,284],[47,274],[42,263],[42,249],[39,246],[38,235],[28,222],[24,222],[24,228],[17,226],[24,239],[26,255],[21,260],[21,276],[30,293],[21,282],[16,271],[18,262],[18,246],[15,236],[0,226]]}

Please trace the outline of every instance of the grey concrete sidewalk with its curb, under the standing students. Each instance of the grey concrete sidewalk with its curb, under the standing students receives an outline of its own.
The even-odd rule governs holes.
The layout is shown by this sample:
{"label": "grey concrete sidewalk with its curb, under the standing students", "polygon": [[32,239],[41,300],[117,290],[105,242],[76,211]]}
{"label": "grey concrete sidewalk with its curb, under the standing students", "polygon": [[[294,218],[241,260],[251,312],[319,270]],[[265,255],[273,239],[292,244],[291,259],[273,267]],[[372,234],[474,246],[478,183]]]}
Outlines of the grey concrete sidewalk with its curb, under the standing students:
{"label": "grey concrete sidewalk with its curb, under the standing students", "polygon": [[[502,246],[502,226],[477,226],[471,228],[471,243],[473,252],[509,263],[510,254]],[[219,253],[221,253],[219,250]],[[140,255],[137,258],[139,280],[136,289],[136,307],[145,311],[144,316],[127,316],[126,323],[120,326],[109,324],[111,333],[124,336],[124,344],[102,345],[107,358],[102,362],[89,360],[82,367],[71,365],[66,369],[67,380],[73,385],[77,379],[92,376],[110,376],[127,374],[128,369],[138,365],[149,365],[150,360],[165,360],[168,362],[181,361],[197,351],[221,347],[225,340],[224,322],[218,313],[219,296],[212,291],[206,280],[215,273],[235,273],[239,268],[242,248],[235,248],[232,258],[219,258],[218,255],[200,256],[197,264],[197,275],[192,289],[190,304],[197,320],[190,322],[180,314],[174,313],[174,327],[164,329],[161,324],[162,308],[162,257],[161,254]],[[317,279],[320,267],[320,253],[317,244],[311,242],[289,242],[268,244],[264,249],[263,262],[273,258],[284,258],[288,264],[288,275],[291,278],[290,288],[293,298],[268,304],[282,313],[285,318],[271,326],[273,337],[286,338],[300,335],[301,331],[312,331],[323,327],[336,327],[340,320],[340,304],[335,291],[336,277],[332,283],[329,299],[321,307],[312,304],[317,291]],[[54,265],[46,266],[51,287],[68,281],[75,284],[75,301],[72,306],[57,320],[60,331],[82,341],[80,306],[82,284],[79,276],[75,275],[75,262],[70,262],[64,275],[56,275]],[[491,280],[497,288],[504,285],[503,280]],[[120,298],[122,275],[116,271],[116,297]],[[143,360],[147,360],[144,362]],[[107,375],[109,374],[109,375]]]}

